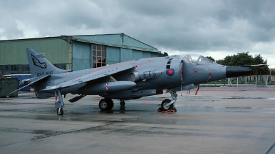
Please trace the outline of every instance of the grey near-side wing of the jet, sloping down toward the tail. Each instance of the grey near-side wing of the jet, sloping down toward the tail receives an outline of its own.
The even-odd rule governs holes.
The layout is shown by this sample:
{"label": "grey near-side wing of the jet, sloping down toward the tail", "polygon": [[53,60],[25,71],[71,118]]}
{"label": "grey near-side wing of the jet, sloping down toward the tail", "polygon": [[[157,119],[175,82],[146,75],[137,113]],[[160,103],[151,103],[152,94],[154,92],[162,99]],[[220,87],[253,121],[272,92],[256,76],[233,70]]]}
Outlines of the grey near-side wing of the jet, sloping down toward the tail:
{"label": "grey near-side wing of the jet, sloping down toward the tail", "polygon": [[62,88],[67,88],[69,86],[74,86],[77,84],[81,84],[83,82],[88,82],[92,81],[95,79],[100,79],[102,77],[107,77],[109,75],[113,75],[115,73],[119,73],[124,70],[130,70],[132,68],[135,68],[135,66],[132,65],[127,65],[127,66],[117,66],[117,67],[110,67],[110,68],[102,68],[101,70],[99,69],[98,71],[94,73],[89,73],[87,75],[83,75],[81,77],[78,77],[76,79],[71,79],[69,81],[63,82],[62,84],[54,85],[54,86],[47,86],[43,90],[55,90],[55,89],[62,89]]}

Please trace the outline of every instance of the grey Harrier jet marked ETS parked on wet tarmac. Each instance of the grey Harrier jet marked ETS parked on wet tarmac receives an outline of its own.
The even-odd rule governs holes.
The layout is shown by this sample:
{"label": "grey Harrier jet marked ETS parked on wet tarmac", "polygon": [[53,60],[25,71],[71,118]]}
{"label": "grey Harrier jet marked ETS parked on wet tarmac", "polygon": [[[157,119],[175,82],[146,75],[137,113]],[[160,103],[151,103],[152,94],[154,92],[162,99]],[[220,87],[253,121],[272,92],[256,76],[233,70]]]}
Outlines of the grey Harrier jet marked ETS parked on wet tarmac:
{"label": "grey Harrier jet marked ETS parked on wet tarmac", "polygon": [[[171,94],[172,100],[162,101],[162,110],[172,109],[177,101],[177,91],[190,90],[194,85],[217,81],[226,77],[237,77],[251,73],[250,67],[223,66],[202,55],[173,55],[150,57],[111,64],[87,70],[62,70],[45,59],[45,55],[34,49],[26,49],[30,64],[31,79],[21,81],[25,86],[34,86],[36,97],[56,97],[56,110],[63,115],[62,95],[78,94],[70,102],[86,95],[104,97],[99,102],[100,110],[111,110],[112,99],[119,99],[124,106],[126,100],[140,99],[163,90]],[[20,89],[19,89],[20,90]]]}

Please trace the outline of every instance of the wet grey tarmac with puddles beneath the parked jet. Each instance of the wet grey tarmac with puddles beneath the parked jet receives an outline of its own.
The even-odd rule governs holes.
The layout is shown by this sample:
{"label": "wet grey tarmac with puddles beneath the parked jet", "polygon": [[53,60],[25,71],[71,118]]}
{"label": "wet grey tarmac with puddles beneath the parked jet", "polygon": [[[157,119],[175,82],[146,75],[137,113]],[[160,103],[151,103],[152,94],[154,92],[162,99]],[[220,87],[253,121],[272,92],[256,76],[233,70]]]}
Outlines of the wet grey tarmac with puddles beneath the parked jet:
{"label": "wet grey tarmac with puddles beneath the parked jet", "polygon": [[19,92],[0,99],[0,153],[275,153],[275,87],[178,94],[173,114],[156,112],[170,94],[113,100],[109,112],[68,94],[57,116],[54,99]]}

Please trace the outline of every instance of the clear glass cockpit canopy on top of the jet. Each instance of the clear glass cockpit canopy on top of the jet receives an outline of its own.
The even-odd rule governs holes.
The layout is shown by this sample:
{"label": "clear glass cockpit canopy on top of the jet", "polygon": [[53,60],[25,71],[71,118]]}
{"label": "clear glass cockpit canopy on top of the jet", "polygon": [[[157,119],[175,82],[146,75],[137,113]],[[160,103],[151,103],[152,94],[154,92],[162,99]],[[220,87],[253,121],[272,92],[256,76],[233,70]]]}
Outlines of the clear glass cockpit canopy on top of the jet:
{"label": "clear glass cockpit canopy on top of the jet", "polygon": [[217,64],[212,60],[209,60],[207,57],[203,57],[202,55],[197,55],[194,53],[186,54],[186,55],[177,55],[181,60],[191,62],[192,64],[202,65],[202,64]]}

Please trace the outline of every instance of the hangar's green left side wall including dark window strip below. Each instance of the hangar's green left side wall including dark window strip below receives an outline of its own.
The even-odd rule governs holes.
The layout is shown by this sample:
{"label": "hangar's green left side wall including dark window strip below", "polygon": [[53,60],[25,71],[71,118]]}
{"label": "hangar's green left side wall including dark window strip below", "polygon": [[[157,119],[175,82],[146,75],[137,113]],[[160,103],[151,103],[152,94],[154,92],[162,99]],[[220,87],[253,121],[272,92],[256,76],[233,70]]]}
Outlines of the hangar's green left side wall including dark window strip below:
{"label": "hangar's green left side wall including dark window strip below", "polygon": [[[71,44],[59,38],[36,38],[0,41],[0,75],[30,73],[26,48],[32,48],[52,64],[71,69]],[[8,57],[8,58],[7,58]]]}

